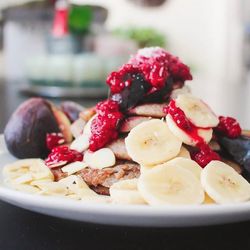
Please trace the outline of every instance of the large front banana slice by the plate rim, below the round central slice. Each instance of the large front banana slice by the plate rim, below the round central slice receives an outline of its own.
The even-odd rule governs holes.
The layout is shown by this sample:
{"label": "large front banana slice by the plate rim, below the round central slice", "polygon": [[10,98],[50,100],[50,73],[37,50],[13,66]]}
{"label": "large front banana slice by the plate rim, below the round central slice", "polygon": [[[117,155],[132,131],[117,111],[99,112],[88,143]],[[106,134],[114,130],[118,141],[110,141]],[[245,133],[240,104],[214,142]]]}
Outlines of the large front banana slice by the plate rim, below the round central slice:
{"label": "large front banana slice by the plate rim, below the round central slice", "polygon": [[139,177],[138,190],[150,205],[201,204],[204,200],[198,178],[168,162],[145,171]]}

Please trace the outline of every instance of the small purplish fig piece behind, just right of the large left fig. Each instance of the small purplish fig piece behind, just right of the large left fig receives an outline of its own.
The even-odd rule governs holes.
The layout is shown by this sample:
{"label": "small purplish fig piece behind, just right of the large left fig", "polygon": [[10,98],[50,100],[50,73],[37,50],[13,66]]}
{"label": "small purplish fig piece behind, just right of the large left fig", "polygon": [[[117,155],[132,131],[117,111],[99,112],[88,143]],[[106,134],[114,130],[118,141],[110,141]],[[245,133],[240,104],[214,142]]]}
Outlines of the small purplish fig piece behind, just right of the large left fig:
{"label": "small purplish fig piece behind, just right of the large left fig", "polygon": [[76,121],[79,118],[80,112],[85,110],[83,106],[72,101],[62,102],[60,108],[71,122]]}

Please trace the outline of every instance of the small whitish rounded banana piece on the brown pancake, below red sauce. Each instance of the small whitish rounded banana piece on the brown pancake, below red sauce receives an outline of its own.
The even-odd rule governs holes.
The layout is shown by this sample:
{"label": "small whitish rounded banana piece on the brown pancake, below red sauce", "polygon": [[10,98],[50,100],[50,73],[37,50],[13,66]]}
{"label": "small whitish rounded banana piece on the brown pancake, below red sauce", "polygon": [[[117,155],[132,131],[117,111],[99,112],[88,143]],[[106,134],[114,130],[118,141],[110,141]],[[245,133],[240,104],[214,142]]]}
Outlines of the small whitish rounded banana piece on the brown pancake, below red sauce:
{"label": "small whitish rounded banana piece on the brown pancake, below red sauce", "polygon": [[84,161],[91,168],[107,168],[115,165],[115,155],[109,148],[101,148],[95,152],[86,151]]}

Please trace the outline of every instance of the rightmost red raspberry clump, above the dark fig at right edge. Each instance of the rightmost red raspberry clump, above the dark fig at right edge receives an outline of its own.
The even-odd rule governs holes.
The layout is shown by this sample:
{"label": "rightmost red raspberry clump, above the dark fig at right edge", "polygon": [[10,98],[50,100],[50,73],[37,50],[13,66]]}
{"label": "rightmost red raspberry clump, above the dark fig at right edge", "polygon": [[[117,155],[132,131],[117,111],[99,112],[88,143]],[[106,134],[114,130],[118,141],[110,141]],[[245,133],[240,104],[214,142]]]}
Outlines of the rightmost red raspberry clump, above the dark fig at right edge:
{"label": "rightmost red raspberry clump, above the dark fig at right edge", "polygon": [[219,120],[219,125],[216,127],[215,131],[229,138],[237,138],[241,135],[241,127],[236,119],[220,116]]}

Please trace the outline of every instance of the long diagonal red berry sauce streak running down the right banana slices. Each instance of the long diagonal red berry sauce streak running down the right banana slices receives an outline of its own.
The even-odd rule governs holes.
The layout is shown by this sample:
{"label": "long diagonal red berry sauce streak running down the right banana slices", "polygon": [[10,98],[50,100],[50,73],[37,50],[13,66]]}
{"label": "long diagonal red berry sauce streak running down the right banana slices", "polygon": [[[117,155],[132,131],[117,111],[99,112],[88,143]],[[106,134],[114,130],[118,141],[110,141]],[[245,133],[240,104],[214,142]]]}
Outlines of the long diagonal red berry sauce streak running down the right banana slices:
{"label": "long diagonal red berry sauce streak running down the right banana slices", "polygon": [[[163,108],[166,114],[171,115],[176,125],[183,130],[195,142],[197,151],[191,153],[191,158],[201,167],[205,167],[212,160],[220,160],[220,156],[210,149],[204,139],[199,136],[199,127],[195,126],[185,115],[185,113],[176,106],[175,101],[171,100],[169,105]],[[202,128],[206,129],[206,128]],[[210,128],[207,128],[210,129]]]}

